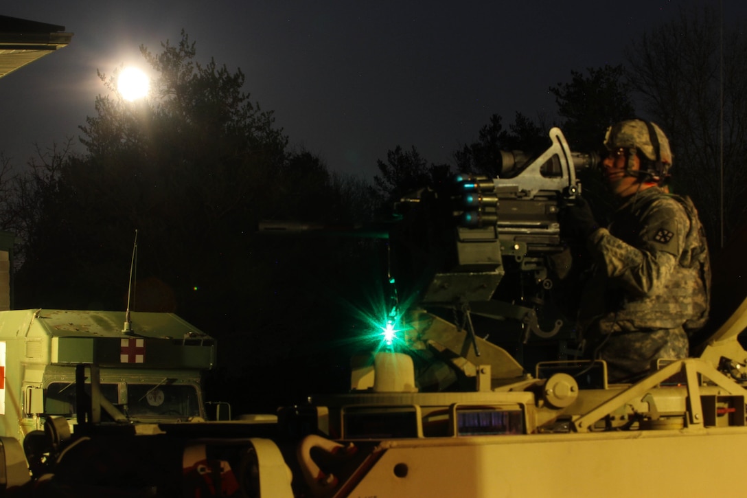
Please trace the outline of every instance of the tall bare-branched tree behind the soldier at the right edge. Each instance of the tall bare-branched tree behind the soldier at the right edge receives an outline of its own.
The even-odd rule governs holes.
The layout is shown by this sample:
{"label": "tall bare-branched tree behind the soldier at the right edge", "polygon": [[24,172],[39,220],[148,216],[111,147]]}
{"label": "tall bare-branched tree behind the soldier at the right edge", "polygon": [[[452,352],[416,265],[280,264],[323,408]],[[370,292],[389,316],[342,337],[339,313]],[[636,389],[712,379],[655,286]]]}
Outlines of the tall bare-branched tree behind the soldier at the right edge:
{"label": "tall bare-branched tree behind the soldier at the right edge", "polygon": [[713,247],[747,219],[746,59],[743,23],[725,25],[712,6],[681,10],[627,50],[630,84],[675,153],[675,188],[695,200]]}

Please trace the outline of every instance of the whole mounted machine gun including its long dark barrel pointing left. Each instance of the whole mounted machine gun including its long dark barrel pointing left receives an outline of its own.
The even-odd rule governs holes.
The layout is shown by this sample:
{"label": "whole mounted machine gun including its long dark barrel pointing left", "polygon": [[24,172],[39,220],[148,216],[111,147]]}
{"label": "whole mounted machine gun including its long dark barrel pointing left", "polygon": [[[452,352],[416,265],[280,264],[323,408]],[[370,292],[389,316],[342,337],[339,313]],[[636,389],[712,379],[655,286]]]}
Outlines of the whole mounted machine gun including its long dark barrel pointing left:
{"label": "whole mounted machine gun including its long dark barrel pointing left", "polygon": [[549,135],[551,146],[534,158],[501,153],[497,178],[459,174],[444,188],[402,197],[395,203],[396,223],[263,221],[259,229],[389,239],[391,274],[421,306],[462,313],[473,334],[471,313],[517,320],[524,342],[532,334],[548,338],[563,324],[560,318],[542,319],[545,295],[555,285],[548,258],[566,250],[558,215],[580,194],[577,171],[598,163],[593,153],[571,152],[560,129]]}

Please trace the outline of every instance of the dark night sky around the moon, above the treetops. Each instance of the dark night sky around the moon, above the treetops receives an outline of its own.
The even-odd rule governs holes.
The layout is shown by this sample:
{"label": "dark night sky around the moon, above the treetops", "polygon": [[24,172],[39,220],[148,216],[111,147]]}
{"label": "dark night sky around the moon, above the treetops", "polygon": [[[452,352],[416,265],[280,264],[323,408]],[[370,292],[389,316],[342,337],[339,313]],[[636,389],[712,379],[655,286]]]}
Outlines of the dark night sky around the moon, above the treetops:
{"label": "dark night sky around the moon, above the treetops", "polygon": [[[548,87],[624,62],[633,37],[704,1],[16,1],[0,13],[75,36],[0,79],[0,151],[21,164],[35,142],[77,138],[106,91],[96,70],[146,69],[140,44],[160,52],[184,28],[200,60],[241,68],[252,101],[331,170],[370,179],[397,145],[448,163],[491,114],[552,119]],[[722,4],[747,19],[747,2]]]}

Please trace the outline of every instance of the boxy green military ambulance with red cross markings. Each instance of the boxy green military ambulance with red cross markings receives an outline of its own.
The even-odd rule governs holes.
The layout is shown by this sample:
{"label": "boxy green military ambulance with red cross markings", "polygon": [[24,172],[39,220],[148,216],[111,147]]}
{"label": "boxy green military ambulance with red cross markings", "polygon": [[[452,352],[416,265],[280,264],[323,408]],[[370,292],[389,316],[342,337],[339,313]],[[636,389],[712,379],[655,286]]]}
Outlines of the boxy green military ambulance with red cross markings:
{"label": "boxy green military ambulance with red cross markings", "polygon": [[104,402],[130,422],[205,419],[214,339],[172,313],[130,315],[125,327],[124,311],[0,312],[0,435],[22,440],[48,416],[75,423],[80,364],[98,366]]}

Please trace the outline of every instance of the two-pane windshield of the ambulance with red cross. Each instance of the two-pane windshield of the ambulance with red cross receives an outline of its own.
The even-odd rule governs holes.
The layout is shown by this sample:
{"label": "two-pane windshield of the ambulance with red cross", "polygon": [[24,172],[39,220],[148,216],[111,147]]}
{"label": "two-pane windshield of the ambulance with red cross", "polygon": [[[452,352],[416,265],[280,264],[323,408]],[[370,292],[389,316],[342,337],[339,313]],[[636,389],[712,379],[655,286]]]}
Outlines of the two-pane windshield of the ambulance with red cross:
{"label": "two-pane windshield of the ambulance with red cross", "polygon": [[[152,419],[188,419],[199,416],[197,390],[190,384],[126,384],[127,402],[120,399],[119,384],[101,384],[102,396],[127,416]],[[90,384],[86,384],[90,394]],[[53,382],[46,388],[46,415],[75,416],[75,383]]]}

